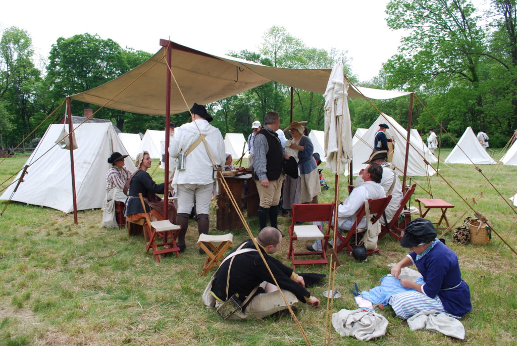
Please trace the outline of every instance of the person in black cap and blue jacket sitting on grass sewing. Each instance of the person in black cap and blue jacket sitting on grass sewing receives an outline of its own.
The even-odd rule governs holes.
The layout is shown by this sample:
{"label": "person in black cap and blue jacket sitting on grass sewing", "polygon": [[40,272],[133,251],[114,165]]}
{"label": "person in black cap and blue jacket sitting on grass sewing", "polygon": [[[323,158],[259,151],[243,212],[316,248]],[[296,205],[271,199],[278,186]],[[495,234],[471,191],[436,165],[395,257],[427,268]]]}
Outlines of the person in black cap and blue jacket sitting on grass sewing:
{"label": "person in black cap and blue jacket sitting on grass sewing", "polygon": [[415,265],[424,283],[401,280],[403,287],[413,290],[389,298],[388,304],[398,317],[407,319],[423,310],[435,310],[461,318],[472,310],[470,289],[461,278],[458,256],[436,239],[431,221],[417,218],[409,222],[400,245],[412,252],[391,268],[391,275],[399,278],[402,268]]}

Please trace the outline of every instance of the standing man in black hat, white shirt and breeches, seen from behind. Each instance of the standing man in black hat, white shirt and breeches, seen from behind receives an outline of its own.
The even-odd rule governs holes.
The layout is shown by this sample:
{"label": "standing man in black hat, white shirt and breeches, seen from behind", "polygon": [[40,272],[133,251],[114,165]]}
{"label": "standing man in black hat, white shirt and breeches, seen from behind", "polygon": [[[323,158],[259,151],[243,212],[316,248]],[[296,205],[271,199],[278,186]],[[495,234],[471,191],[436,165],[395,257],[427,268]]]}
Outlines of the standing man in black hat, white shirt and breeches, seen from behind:
{"label": "standing man in black hat, white shirt and breeches, seen from behind", "polygon": [[[185,168],[176,169],[172,182],[178,195],[176,222],[181,226],[178,237],[180,252],[185,251],[186,248],[185,234],[194,206],[194,198],[197,230],[199,234],[208,234],[210,200],[215,182],[212,159],[219,167],[222,167],[226,161],[223,137],[218,128],[209,124],[213,118],[206,112],[206,108],[194,103],[190,113],[192,122],[176,128],[174,139],[169,147],[171,157],[185,155]],[[200,253],[203,253],[201,248]]]}

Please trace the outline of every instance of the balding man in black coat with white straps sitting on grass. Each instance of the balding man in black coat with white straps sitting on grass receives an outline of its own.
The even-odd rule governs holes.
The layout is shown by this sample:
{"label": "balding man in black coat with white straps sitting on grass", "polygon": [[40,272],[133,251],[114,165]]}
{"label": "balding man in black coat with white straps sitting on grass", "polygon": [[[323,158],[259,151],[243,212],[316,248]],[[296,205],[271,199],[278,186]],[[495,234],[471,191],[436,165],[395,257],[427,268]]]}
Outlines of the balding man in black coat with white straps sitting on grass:
{"label": "balding man in black coat with white straps sitting on grass", "polygon": [[[269,256],[269,254],[277,252],[282,243],[280,231],[273,227],[266,227],[258,233],[256,241],[287,302],[292,306],[300,300],[302,303],[320,306],[320,300],[311,296],[305,289],[303,277],[293,272],[292,268]],[[237,251],[240,252],[232,255]],[[242,306],[241,310],[229,317],[232,320],[244,320],[252,317],[262,319],[286,309],[280,291],[251,240],[245,240],[227,257],[231,256],[231,259],[221,263],[212,282],[210,293],[216,298],[216,307],[235,294],[241,302],[244,302],[249,295],[252,297]]]}

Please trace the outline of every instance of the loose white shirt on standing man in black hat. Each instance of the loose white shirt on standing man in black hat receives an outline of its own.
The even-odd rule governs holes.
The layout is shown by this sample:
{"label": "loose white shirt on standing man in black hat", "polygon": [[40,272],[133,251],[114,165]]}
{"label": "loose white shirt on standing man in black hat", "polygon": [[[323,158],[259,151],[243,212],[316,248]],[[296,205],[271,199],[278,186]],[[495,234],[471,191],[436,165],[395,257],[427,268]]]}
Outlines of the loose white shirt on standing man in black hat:
{"label": "loose white shirt on standing man in black hat", "polygon": [[[208,124],[205,119],[196,119],[194,122],[183,124],[176,128],[174,140],[169,146],[169,154],[173,158],[178,157],[178,153],[183,151],[186,153],[190,145],[199,138],[200,133],[197,130],[199,126],[201,133],[206,134],[205,141],[208,144],[212,157],[221,167],[224,167],[226,154],[224,153],[224,141],[221,131],[218,128]],[[185,158],[185,169],[176,170],[172,184],[196,184],[206,185],[214,183],[213,164],[208,156],[205,145],[201,142],[195,149]]]}

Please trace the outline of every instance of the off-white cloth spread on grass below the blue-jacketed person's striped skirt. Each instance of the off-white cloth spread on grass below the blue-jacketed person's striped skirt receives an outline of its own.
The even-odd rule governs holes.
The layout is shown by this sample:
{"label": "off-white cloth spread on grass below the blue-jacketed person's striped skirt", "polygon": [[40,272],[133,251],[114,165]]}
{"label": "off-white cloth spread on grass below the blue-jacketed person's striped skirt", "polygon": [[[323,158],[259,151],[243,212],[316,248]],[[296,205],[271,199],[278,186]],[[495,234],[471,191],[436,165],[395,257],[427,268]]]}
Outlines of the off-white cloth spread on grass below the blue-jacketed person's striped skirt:
{"label": "off-white cloth spread on grass below the blue-jacketed person's striped skirt", "polygon": [[463,324],[450,317],[446,313],[436,311],[420,311],[407,319],[407,325],[411,330],[428,329],[434,330],[447,336],[457,339],[465,339],[465,327]]}

